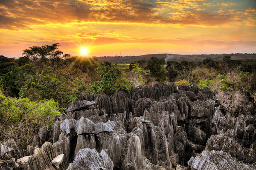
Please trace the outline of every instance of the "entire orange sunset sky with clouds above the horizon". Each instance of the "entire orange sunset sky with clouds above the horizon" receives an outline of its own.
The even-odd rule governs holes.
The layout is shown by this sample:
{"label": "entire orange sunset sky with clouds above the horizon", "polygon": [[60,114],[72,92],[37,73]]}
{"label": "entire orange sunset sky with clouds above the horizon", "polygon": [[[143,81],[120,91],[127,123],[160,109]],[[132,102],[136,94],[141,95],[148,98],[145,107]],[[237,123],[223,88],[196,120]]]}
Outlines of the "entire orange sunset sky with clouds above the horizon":
{"label": "entire orange sunset sky with clouds above the horizon", "polygon": [[0,0],[0,55],[256,53],[256,0]]}

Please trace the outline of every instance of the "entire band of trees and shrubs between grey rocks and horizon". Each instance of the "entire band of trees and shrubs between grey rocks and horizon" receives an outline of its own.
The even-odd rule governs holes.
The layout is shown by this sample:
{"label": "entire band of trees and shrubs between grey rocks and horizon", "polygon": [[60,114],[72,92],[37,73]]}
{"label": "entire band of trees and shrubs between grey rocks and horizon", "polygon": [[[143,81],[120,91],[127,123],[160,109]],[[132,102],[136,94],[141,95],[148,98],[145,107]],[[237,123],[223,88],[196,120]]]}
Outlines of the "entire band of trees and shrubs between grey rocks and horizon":
{"label": "entire band of trees and shrubs between grey rocks and horizon", "polygon": [[[0,141],[14,138],[21,147],[31,144],[33,134],[42,126],[50,126],[55,115],[61,114],[81,92],[111,95],[117,90],[129,92],[132,87],[155,83],[196,84],[214,90],[234,116],[241,99],[246,100],[241,91],[256,94],[256,60],[231,60],[225,56],[220,61],[166,63],[151,57],[131,63],[129,69],[120,69],[96,58],[63,54],[58,47],[58,43],[29,47],[18,59],[0,56]],[[236,99],[230,98],[235,95]]]}

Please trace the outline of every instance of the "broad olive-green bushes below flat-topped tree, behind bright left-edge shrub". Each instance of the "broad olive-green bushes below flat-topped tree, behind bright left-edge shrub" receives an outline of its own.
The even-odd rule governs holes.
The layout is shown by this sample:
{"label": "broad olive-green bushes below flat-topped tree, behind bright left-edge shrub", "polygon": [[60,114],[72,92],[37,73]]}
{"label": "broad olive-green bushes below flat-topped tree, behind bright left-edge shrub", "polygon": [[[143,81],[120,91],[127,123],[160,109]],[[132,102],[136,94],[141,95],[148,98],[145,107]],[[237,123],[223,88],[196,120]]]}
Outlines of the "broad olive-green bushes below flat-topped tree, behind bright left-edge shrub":
{"label": "broad olive-green bushes below flat-topped tree, behind bright left-edge shrub", "polygon": [[78,97],[85,86],[81,76],[73,77],[72,73],[66,68],[53,70],[52,66],[44,66],[40,73],[26,75],[19,96],[32,101],[53,98],[61,107],[65,107]]}

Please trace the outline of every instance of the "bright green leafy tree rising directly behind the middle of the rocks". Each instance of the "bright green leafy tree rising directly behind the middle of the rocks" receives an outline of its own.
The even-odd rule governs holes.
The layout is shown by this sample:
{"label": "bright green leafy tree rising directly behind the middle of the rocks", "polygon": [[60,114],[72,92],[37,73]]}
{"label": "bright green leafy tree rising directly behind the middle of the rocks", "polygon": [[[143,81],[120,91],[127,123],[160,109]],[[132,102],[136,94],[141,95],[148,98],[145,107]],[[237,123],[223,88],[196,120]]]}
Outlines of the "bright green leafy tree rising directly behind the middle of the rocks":
{"label": "bright green leafy tree rising directly behind the middle of the rocks", "polygon": [[116,64],[112,65],[108,62],[99,62],[96,68],[96,74],[99,80],[95,81],[88,89],[88,92],[91,94],[105,92],[111,95],[117,90],[125,90],[127,92],[131,90],[132,82],[123,75]]}

